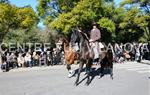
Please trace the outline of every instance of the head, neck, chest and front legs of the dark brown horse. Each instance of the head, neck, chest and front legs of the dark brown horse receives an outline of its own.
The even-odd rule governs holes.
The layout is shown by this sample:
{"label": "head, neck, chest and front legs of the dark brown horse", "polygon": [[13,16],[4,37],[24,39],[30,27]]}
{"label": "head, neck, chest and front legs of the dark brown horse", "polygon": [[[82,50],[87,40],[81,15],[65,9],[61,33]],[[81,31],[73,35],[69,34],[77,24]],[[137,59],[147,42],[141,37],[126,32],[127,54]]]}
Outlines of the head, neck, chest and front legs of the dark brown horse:
{"label": "head, neck, chest and front legs of the dark brown horse", "polygon": [[89,45],[89,39],[84,33],[82,32],[80,33],[78,30],[73,30],[70,42],[72,47],[75,45],[75,43],[79,43],[78,60],[80,61],[80,63],[75,85],[77,86],[79,84],[80,73],[83,69],[84,64],[86,65],[86,74],[87,74],[86,85],[89,85],[90,69],[92,65],[92,60],[94,58],[94,52]]}

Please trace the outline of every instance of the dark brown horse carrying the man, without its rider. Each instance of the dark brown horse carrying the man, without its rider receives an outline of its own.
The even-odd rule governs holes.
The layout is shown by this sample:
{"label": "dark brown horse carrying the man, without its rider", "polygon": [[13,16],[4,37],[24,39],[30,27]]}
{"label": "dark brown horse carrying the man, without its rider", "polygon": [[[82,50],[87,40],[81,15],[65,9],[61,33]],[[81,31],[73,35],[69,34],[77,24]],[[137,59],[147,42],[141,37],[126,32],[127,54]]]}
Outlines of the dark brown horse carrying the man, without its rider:
{"label": "dark brown horse carrying the man, without its rider", "polygon": [[[92,61],[94,58],[94,52],[93,49],[90,47],[89,39],[87,35],[85,35],[83,32],[79,32],[78,30],[73,30],[73,33],[71,35],[71,45],[73,46],[75,43],[79,43],[79,70],[78,70],[78,76],[76,79],[75,84],[78,85],[79,77],[81,70],[83,68],[83,64],[86,64],[86,73],[87,73],[87,82],[88,85],[90,83],[89,79],[89,73],[90,68],[92,65]],[[101,48],[100,48],[101,49]],[[110,69],[110,76],[113,78],[113,54],[112,50],[108,49],[107,47],[104,47],[102,50],[100,50],[100,65],[101,65],[101,73],[99,74],[100,77],[104,75],[104,69],[109,68]]]}

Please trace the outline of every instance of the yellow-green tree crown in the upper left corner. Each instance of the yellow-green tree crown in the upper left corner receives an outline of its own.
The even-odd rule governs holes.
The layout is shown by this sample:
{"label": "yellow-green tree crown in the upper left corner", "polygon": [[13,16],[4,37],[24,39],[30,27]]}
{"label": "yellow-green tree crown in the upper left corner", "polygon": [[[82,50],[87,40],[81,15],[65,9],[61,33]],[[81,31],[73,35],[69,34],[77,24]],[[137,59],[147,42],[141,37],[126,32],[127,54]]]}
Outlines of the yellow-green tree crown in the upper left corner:
{"label": "yellow-green tree crown in the upper left corner", "polygon": [[36,13],[30,6],[22,8],[0,3],[0,42],[14,29],[30,30],[38,22]]}

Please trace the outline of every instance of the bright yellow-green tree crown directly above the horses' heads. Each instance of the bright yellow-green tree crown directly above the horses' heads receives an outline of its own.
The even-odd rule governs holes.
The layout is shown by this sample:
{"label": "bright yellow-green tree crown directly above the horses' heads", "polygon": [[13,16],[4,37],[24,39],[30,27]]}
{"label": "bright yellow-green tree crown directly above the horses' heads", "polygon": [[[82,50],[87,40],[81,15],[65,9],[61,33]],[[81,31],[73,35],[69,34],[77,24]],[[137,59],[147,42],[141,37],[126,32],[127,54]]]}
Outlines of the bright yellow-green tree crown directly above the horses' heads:
{"label": "bright yellow-green tree crown directly above the horses' heads", "polygon": [[96,14],[99,13],[100,8],[100,0],[82,0],[70,12],[60,14],[48,26],[64,33],[69,33],[72,28],[78,26],[85,29],[89,27],[89,23],[96,19]]}

